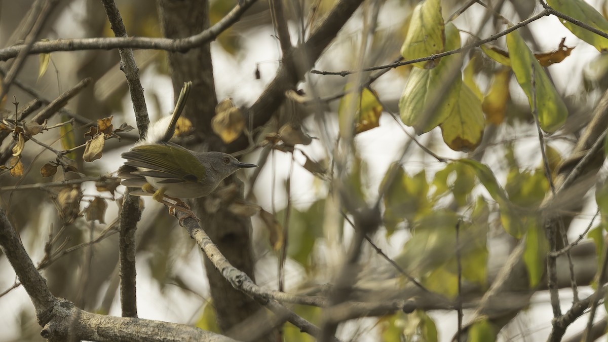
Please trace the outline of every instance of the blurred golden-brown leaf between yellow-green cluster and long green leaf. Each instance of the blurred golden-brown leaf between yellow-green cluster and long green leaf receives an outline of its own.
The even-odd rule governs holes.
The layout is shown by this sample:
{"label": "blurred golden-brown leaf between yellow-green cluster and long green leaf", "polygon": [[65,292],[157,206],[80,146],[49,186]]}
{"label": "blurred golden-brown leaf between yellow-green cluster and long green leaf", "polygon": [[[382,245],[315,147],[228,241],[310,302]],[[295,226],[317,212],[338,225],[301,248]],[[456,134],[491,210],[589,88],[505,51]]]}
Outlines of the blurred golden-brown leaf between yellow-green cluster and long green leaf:
{"label": "blurred golden-brown leaf between yellow-green cluster and long green leaf", "polygon": [[483,98],[482,110],[486,120],[494,125],[502,124],[505,119],[506,102],[509,100],[509,80],[511,68],[501,68],[494,73],[494,80],[488,94]]}

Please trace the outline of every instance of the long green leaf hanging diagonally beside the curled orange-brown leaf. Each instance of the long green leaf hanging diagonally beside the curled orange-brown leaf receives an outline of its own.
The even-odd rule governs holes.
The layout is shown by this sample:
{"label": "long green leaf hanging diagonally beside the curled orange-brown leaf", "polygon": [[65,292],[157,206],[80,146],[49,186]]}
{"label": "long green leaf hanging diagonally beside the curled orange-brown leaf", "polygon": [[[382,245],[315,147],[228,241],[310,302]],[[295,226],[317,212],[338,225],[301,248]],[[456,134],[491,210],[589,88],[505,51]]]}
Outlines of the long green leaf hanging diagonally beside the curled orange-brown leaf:
{"label": "long green leaf hanging diagonally beside the curled orange-brown leaf", "polygon": [[[536,110],[541,128],[545,132],[553,133],[564,125],[568,116],[564,101],[519,32],[513,31],[506,35],[506,46],[511,52],[511,66],[515,77],[523,92],[528,96],[530,108],[534,108],[534,97],[536,97]],[[534,83],[536,84],[534,91],[532,87],[533,68]]]}

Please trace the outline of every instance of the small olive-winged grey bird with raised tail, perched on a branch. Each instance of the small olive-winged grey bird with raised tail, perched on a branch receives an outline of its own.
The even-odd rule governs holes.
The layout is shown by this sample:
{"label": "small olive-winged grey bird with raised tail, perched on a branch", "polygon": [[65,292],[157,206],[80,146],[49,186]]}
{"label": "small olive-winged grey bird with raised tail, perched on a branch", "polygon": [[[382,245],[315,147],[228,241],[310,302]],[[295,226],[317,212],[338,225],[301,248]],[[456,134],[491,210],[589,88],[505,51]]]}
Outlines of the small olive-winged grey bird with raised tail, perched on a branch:
{"label": "small olive-winged grey bird with raised tail, perched on a branch", "polygon": [[119,168],[118,176],[122,178],[120,184],[136,188],[131,191],[132,195],[151,195],[170,208],[192,215],[190,207],[180,198],[207,196],[227,176],[257,165],[240,162],[227,153],[196,152],[168,141],[184,108],[189,86],[189,83],[184,85],[170,122],[163,119],[151,125],[145,139],[122,153],[126,161]]}

